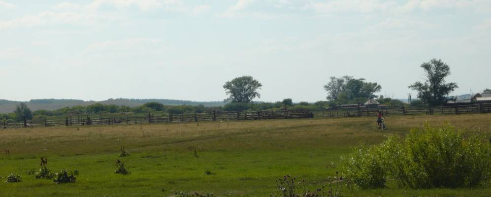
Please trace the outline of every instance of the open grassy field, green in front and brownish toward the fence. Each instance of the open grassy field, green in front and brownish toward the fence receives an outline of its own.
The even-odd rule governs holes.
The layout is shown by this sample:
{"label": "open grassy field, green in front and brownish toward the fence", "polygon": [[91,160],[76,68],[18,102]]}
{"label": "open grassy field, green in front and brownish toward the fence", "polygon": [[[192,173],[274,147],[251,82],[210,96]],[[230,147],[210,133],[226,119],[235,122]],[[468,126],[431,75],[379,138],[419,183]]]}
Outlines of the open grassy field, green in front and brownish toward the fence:
{"label": "open grassy field, green in front and brownish toward the fence", "polygon": [[[450,122],[467,134],[491,136],[491,114],[388,117],[378,130],[374,118],[262,120],[0,130],[0,176],[16,173],[19,183],[1,179],[4,197],[165,197],[179,191],[216,196],[276,194],[275,179],[290,174],[312,188],[334,176],[339,157],[360,144],[375,144],[387,134],[408,133],[425,122]],[[489,140],[489,138],[487,138]],[[120,158],[125,146],[131,154]],[[197,156],[194,154],[196,149]],[[1,152],[3,153],[3,151]],[[39,158],[59,171],[78,169],[75,183],[56,185],[35,179]],[[131,171],[114,174],[120,159]],[[206,170],[213,174],[205,175]],[[345,196],[489,197],[490,188],[398,189],[389,181],[379,190],[343,190]]]}

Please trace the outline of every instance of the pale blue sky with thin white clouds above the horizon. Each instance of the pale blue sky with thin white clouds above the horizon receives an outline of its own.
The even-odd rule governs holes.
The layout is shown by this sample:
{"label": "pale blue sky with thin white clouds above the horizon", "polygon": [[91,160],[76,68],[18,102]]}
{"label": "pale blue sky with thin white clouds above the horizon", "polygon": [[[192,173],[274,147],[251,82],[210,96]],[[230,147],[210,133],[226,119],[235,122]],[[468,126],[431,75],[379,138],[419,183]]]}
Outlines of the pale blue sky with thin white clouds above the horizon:
{"label": "pale blue sky with thin white clouds above the horizon", "polygon": [[491,88],[491,0],[0,0],[0,99],[325,100],[330,76],[407,98],[420,65]]}

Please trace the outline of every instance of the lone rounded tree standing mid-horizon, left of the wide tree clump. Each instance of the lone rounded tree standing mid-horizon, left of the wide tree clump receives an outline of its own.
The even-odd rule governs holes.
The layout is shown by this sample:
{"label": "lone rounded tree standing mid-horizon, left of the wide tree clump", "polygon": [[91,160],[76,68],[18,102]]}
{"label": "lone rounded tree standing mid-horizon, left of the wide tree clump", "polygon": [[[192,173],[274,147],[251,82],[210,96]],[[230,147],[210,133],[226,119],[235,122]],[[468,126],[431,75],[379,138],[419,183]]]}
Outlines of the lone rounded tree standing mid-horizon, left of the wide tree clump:
{"label": "lone rounded tree standing mid-horizon, left of the wide tree clump", "polygon": [[231,81],[225,82],[223,88],[225,89],[229,102],[243,102],[249,103],[254,98],[261,98],[258,89],[261,89],[262,84],[252,76],[241,76]]}

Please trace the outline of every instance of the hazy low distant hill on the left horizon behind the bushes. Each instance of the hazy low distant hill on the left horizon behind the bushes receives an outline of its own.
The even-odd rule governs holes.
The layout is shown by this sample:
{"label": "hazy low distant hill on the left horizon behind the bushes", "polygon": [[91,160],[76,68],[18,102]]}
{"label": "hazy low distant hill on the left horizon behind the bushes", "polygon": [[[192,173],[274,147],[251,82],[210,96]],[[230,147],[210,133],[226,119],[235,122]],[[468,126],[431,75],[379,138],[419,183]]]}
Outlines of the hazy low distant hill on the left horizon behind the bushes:
{"label": "hazy low distant hill on the left horizon behind the bushes", "polygon": [[115,105],[125,105],[129,107],[136,107],[143,105],[147,102],[159,102],[164,105],[199,105],[202,104],[204,106],[215,107],[215,106],[223,106],[225,103],[223,101],[210,101],[210,102],[198,102],[191,100],[175,100],[175,99],[107,99],[102,101],[84,101],[77,99],[31,99],[30,101],[13,101],[13,100],[5,100],[0,99],[0,113],[11,113],[15,110],[15,106],[19,103],[24,102],[27,106],[32,110],[36,111],[39,109],[45,110],[56,110],[63,107],[73,107],[77,105],[91,105],[94,103],[101,104],[115,104]]}

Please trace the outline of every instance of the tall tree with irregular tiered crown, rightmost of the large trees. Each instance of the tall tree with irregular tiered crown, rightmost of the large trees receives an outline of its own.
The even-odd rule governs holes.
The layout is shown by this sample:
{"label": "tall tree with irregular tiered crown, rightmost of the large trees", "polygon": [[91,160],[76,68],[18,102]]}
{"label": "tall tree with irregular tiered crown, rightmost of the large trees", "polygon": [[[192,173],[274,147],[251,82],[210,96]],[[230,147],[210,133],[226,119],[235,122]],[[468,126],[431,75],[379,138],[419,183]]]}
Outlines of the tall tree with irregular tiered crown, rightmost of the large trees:
{"label": "tall tree with irregular tiered crown, rightmost of the large trees", "polygon": [[424,82],[415,82],[409,88],[418,91],[418,98],[425,105],[439,106],[448,101],[448,95],[458,88],[457,83],[447,83],[445,78],[450,75],[450,66],[445,62],[432,59],[421,67],[426,72]]}

